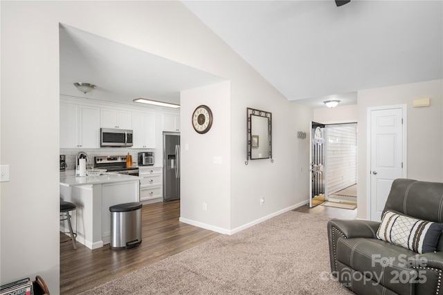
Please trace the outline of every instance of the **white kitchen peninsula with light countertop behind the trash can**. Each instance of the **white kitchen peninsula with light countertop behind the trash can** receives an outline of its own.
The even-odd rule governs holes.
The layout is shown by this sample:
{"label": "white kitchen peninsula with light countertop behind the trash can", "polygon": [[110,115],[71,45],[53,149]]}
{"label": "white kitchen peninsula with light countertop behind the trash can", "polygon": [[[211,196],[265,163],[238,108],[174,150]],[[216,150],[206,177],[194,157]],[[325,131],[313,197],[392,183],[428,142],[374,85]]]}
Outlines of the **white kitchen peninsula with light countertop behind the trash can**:
{"label": "white kitchen peninsula with light countertop behind the trash can", "polygon": [[[60,172],[60,198],[77,207],[72,213],[76,240],[89,249],[100,248],[111,241],[109,207],[139,202],[140,177],[118,173],[75,177],[75,171]],[[66,232],[60,222],[60,231]]]}

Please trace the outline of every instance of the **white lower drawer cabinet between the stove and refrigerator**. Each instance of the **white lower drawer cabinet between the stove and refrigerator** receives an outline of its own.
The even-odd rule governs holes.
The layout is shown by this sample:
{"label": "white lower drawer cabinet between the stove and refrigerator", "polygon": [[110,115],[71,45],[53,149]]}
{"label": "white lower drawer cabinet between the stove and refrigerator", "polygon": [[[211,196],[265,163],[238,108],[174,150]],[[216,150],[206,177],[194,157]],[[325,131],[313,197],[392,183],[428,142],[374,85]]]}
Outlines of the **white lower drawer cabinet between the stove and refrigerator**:
{"label": "white lower drawer cabinet between the stove and refrigerator", "polygon": [[163,201],[163,167],[139,166],[140,202],[150,204]]}

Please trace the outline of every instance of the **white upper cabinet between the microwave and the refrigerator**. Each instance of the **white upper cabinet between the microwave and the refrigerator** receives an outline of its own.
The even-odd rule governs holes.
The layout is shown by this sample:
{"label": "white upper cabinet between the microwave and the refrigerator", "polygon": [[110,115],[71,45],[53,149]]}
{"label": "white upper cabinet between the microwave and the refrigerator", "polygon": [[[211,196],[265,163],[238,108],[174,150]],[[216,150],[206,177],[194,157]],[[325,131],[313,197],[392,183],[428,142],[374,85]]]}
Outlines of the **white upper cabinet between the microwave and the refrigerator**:
{"label": "white upper cabinet between the microwave and the refrigerator", "polygon": [[132,112],[134,149],[155,149],[155,115]]}

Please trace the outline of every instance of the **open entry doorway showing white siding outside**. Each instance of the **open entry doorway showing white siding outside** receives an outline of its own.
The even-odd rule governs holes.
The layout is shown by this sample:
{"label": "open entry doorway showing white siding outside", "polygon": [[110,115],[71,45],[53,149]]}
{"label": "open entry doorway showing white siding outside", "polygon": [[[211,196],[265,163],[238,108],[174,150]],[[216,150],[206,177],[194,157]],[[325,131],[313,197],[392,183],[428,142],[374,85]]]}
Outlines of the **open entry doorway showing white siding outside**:
{"label": "open entry doorway showing white siding outside", "polygon": [[311,122],[309,207],[356,206],[357,124]]}

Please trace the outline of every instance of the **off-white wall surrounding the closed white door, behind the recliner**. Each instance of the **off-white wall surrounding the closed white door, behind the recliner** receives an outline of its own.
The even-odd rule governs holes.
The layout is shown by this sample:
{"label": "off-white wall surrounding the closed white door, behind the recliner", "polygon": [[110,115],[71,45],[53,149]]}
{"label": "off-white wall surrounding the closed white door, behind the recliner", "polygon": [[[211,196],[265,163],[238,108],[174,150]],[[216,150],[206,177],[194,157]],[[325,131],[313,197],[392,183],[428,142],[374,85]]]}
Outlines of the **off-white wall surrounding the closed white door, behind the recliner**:
{"label": "off-white wall surrounding the closed white door, behind the recliner", "polygon": [[[431,106],[413,108],[413,99],[431,97]],[[443,181],[443,80],[374,88],[358,93],[359,133],[357,135],[358,217],[366,218],[367,192],[367,110],[371,106],[407,104],[407,177]],[[362,193],[360,193],[362,192]]]}

